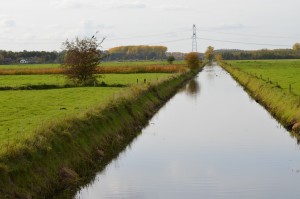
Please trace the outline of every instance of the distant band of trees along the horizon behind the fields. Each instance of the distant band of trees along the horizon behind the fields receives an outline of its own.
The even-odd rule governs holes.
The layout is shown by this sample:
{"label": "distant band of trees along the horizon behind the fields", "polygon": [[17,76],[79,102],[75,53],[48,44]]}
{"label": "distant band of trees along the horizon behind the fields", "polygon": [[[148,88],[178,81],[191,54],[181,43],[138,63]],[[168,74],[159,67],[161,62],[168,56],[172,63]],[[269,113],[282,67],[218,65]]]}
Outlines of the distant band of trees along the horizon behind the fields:
{"label": "distant band of trees along the horizon behind the fields", "polygon": [[[120,46],[111,48],[108,51],[102,51],[103,61],[123,61],[123,60],[163,60],[174,57],[175,60],[183,60],[185,53],[167,52],[165,46]],[[214,50],[208,48],[205,55],[199,53],[199,57],[211,60],[218,55],[225,60],[254,60],[254,59],[300,59],[300,44],[296,43],[292,49],[275,49],[275,50],[232,50],[222,49]],[[44,63],[63,63],[65,51],[5,51],[0,50],[0,64],[17,64],[21,60],[26,60],[30,64]]]}

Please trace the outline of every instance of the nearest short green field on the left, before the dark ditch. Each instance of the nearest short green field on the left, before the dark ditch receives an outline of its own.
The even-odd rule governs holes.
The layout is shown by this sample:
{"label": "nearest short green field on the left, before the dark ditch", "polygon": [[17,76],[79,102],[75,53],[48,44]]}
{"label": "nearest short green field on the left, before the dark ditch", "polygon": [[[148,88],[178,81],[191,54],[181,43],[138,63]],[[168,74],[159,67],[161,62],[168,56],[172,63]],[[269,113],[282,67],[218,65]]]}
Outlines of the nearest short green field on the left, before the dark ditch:
{"label": "nearest short green field on the left, before the dark ditch", "polygon": [[[107,102],[121,88],[66,88],[0,91],[0,148],[32,136],[49,121],[80,114]],[[0,149],[1,150],[1,149]]]}

